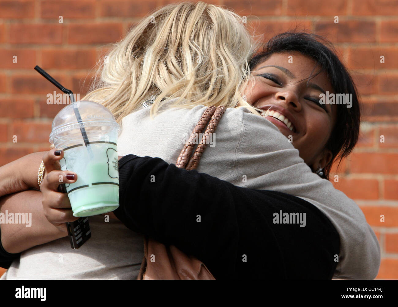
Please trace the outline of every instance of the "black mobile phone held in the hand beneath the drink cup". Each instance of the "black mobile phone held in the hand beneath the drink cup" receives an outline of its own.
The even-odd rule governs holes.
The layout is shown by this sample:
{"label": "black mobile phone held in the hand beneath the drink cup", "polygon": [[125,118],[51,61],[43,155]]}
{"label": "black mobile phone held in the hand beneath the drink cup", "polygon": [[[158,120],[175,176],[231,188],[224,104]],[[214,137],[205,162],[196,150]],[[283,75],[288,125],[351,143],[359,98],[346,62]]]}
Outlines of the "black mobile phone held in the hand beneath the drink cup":
{"label": "black mobile phone held in the hand beneath the drink cup", "polygon": [[[58,191],[66,193],[65,184],[62,183],[58,186]],[[88,217],[79,218],[74,222],[67,222],[66,228],[68,229],[68,236],[70,241],[70,247],[72,249],[78,249],[88,239],[91,238],[90,224],[88,223]]]}

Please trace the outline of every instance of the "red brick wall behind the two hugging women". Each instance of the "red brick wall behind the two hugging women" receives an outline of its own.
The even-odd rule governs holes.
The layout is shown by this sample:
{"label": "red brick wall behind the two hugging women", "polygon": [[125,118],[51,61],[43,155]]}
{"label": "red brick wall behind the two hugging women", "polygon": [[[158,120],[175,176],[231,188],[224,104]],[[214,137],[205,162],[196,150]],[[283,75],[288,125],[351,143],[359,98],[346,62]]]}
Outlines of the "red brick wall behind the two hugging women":
{"label": "red brick wall behind the two hugging women", "polygon": [[[33,67],[86,92],[90,68],[106,47],[150,10],[173,1],[0,0],[0,165],[47,150],[51,121],[62,108],[47,105],[55,90]],[[395,0],[212,0],[248,17],[263,39],[305,29],[335,43],[361,93],[363,122],[355,152],[336,173],[337,188],[357,201],[377,233],[377,278],[398,278],[398,3]],[[250,17],[256,15],[257,17]],[[63,23],[59,23],[62,16]],[[335,23],[336,17],[339,23]],[[17,62],[13,57],[17,56]],[[384,63],[380,63],[384,56]],[[84,79],[89,76],[84,84]],[[13,142],[13,136],[17,142]],[[380,142],[384,136],[384,143]],[[334,177],[332,176],[332,179]],[[380,222],[380,215],[384,222]],[[0,270],[0,274],[2,271]]]}

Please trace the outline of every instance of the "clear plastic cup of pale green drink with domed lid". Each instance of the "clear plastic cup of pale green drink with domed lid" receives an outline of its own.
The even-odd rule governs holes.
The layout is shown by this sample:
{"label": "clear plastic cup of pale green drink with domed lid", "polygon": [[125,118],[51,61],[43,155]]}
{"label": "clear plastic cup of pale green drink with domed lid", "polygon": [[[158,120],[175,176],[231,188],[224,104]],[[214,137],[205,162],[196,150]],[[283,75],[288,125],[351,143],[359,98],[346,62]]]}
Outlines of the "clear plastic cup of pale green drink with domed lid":
{"label": "clear plastic cup of pale green drink with domed lid", "polygon": [[113,114],[94,101],[72,103],[55,116],[49,141],[64,151],[61,169],[78,175],[75,183],[65,184],[74,216],[119,207],[118,131]]}

